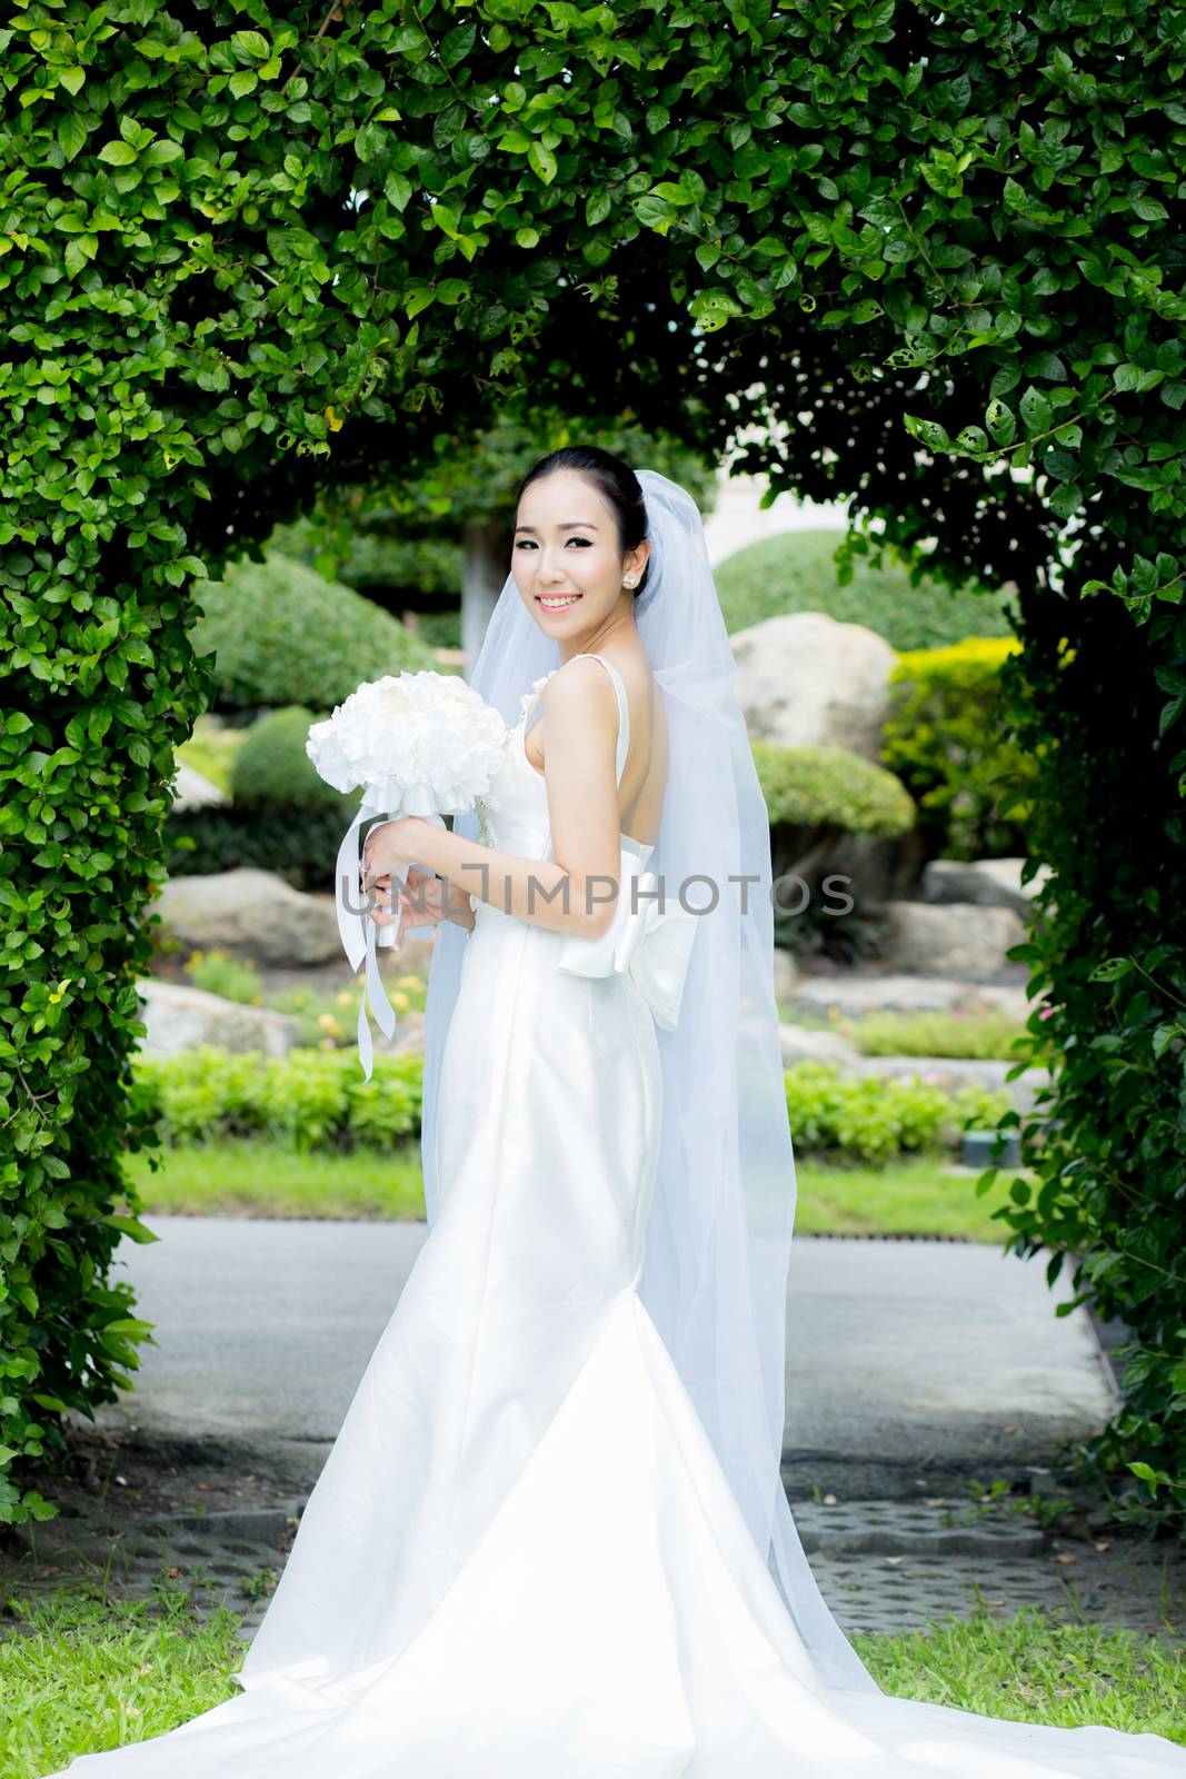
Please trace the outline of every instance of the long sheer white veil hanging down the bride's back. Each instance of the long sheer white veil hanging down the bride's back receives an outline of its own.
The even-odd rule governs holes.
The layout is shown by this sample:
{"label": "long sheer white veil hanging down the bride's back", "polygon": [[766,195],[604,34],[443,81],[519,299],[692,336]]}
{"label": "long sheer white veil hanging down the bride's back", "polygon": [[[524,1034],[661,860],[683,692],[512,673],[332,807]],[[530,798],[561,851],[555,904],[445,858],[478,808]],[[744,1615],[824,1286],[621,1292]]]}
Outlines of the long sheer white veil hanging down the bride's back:
{"label": "long sheer white veil hanging down the bride's back", "polygon": [[[658,1032],[663,1128],[640,1295],[820,1678],[880,1692],[820,1594],[781,1478],[795,1158],[773,998],[766,802],[699,509],[654,470],[638,471],[638,482],[651,557],[635,619],[670,737],[649,870],[667,897],[704,911],[679,1026]],[[557,642],[507,575],[469,683],[514,722],[521,696],[558,665]],[[477,840],[477,815],[455,817],[453,831]],[[466,943],[462,927],[441,923],[429,971],[421,1158],[430,1222],[441,1055]]]}

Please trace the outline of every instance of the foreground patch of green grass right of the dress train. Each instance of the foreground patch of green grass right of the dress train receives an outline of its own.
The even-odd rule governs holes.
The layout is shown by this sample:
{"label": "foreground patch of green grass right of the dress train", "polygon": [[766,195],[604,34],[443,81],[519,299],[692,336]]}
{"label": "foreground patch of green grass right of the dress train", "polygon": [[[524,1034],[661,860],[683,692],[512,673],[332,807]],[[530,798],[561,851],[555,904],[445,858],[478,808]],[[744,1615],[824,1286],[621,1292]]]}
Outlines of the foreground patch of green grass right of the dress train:
{"label": "foreground patch of green grass right of the dress train", "polygon": [[983,1717],[1104,1724],[1186,1743],[1186,1651],[1136,1631],[1067,1624],[1037,1606],[982,1610],[932,1631],[853,1637],[885,1692]]}

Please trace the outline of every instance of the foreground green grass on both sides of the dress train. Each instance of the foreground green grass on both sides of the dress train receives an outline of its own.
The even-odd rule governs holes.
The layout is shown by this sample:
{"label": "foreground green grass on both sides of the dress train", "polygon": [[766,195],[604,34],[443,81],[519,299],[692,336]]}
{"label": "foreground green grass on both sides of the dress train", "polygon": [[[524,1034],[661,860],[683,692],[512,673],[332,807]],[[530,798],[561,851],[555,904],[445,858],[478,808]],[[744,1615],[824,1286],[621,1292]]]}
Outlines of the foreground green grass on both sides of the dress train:
{"label": "foreground green grass on both sides of the dress train", "polygon": [[[238,1692],[240,1619],[226,1608],[199,1617],[180,1590],[137,1605],[62,1592],[37,1605],[11,1599],[7,1612],[5,1779],[41,1779],[78,1754],[164,1735]],[[896,1697],[1186,1742],[1186,1658],[1133,1631],[1065,1624],[1026,1606],[1014,1619],[982,1612],[853,1644]]]}

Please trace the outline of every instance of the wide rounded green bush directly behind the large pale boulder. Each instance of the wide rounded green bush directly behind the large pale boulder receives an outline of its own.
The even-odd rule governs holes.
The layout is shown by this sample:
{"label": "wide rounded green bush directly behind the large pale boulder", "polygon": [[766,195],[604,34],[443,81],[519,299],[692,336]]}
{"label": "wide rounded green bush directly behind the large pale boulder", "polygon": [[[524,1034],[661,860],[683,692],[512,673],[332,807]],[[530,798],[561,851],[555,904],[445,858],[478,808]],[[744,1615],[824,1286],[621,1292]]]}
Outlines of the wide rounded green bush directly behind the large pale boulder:
{"label": "wide rounded green bush directly behind the large pale boulder", "polygon": [[725,557],[713,575],[729,633],[788,612],[823,612],[841,624],[864,624],[894,649],[1012,633],[1003,592],[978,591],[971,582],[951,589],[932,575],[912,585],[910,568],[893,550],[882,568],[857,559],[852,578],[841,582],[834,560],[841,541],[843,532],[781,532]]}

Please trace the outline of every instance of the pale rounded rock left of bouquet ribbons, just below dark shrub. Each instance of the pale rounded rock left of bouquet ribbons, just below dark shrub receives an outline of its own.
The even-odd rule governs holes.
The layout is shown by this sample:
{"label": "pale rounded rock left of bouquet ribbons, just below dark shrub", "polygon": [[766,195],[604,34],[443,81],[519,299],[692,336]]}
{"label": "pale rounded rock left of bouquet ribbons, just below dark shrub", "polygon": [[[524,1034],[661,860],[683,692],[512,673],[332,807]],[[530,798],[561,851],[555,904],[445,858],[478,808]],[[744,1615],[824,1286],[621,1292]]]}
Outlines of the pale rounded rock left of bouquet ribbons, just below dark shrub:
{"label": "pale rounded rock left of bouquet ribbons, just below dark shrub", "polygon": [[345,961],[333,897],[304,895],[272,872],[171,877],[155,906],[165,932],[192,950],[290,968]]}

